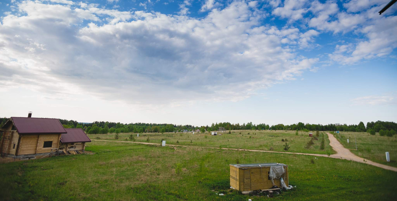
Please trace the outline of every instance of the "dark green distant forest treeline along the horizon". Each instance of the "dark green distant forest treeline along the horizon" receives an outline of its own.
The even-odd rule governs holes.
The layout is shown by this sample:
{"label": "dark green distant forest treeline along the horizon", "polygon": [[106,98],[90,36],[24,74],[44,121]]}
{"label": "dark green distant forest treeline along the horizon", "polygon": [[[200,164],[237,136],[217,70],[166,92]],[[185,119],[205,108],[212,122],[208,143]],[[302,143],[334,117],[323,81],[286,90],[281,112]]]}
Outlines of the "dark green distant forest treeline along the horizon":
{"label": "dark green distant forest treeline along the horizon", "polygon": [[[0,118],[0,126],[3,126],[8,118]],[[367,122],[364,125],[360,122],[358,125],[347,125],[347,124],[304,124],[299,122],[298,124],[284,125],[277,124],[269,126],[268,124],[230,124],[229,122],[224,123],[212,123],[211,126],[192,126],[192,125],[175,125],[175,124],[148,124],[148,123],[131,123],[122,124],[116,122],[93,122],[89,124],[79,123],[73,120],[60,119],[61,124],[65,128],[82,128],[87,133],[98,134],[98,133],[165,133],[165,132],[181,132],[181,131],[192,131],[200,129],[200,131],[215,131],[218,128],[223,127],[226,130],[300,130],[300,131],[351,131],[351,132],[368,132],[372,135],[375,132],[379,132],[380,135],[394,135],[397,131],[397,124],[395,122]]]}

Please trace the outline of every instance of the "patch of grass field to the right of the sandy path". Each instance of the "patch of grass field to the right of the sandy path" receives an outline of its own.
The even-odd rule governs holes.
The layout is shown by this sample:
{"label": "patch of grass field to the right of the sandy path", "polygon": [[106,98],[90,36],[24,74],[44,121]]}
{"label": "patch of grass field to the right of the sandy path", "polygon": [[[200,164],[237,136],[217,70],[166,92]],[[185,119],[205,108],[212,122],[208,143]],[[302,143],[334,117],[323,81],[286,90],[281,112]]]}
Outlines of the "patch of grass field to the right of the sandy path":
{"label": "patch of grass field to the right of the sandy path", "polygon": [[[369,133],[358,132],[341,132],[334,135],[336,139],[347,149],[350,149],[355,155],[378,162],[381,164],[397,167],[397,135],[393,137],[370,135]],[[355,144],[357,141],[357,150]],[[350,143],[347,143],[349,139]],[[390,155],[390,162],[386,161],[385,152]]]}

